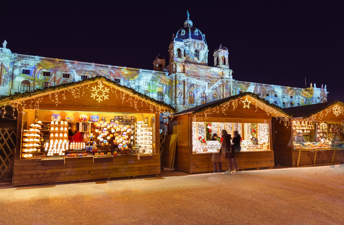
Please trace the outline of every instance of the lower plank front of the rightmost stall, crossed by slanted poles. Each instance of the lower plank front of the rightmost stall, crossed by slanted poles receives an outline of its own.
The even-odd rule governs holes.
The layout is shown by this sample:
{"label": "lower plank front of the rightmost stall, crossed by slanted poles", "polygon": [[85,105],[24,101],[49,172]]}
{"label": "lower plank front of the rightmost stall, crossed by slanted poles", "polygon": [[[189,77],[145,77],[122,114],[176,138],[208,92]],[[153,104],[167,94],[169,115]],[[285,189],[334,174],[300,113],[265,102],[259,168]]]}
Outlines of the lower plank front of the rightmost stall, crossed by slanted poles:
{"label": "lower plank front of the rightmost stall, crossed by slanted poles", "polygon": [[[335,151],[335,150],[318,151],[316,153],[315,164],[331,163],[332,157],[333,157],[333,151]],[[293,151],[292,154],[293,154],[293,166],[297,166],[299,151]],[[315,152],[302,151],[301,155],[300,155],[299,166],[313,165],[314,156],[315,156]],[[344,151],[336,150],[333,162],[334,163],[343,163],[344,162]]]}

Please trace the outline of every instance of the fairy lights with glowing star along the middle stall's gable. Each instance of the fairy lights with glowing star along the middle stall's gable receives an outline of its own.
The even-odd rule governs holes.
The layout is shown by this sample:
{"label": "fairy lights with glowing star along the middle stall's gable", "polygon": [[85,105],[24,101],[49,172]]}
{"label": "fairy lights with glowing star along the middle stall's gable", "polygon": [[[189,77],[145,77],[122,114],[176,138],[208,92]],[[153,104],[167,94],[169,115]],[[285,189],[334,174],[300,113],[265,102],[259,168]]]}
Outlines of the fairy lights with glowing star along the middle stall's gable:
{"label": "fairy lights with glowing star along the middle stall's gable", "polygon": [[269,107],[268,105],[260,102],[259,100],[255,99],[255,98],[251,98],[250,100],[248,100],[247,96],[246,99],[243,100],[242,97],[236,98],[236,99],[231,99],[228,100],[227,102],[221,103],[219,106],[215,106],[213,108],[208,108],[205,109],[201,112],[196,112],[194,114],[194,117],[198,117],[199,120],[209,120],[209,118],[211,118],[211,115],[214,113],[219,113],[222,112],[222,114],[226,115],[226,110],[233,108],[233,110],[235,110],[236,108],[238,108],[239,104],[243,104],[243,109],[244,108],[250,108],[250,105],[252,105],[253,107],[256,108],[255,111],[258,111],[258,109],[262,109],[266,112],[267,115],[274,115],[274,117],[276,117],[277,119],[280,120],[280,122],[284,122],[285,126],[289,126],[289,117],[286,116],[285,114],[283,114],[282,112],[278,111],[277,109],[273,109],[272,107]]}

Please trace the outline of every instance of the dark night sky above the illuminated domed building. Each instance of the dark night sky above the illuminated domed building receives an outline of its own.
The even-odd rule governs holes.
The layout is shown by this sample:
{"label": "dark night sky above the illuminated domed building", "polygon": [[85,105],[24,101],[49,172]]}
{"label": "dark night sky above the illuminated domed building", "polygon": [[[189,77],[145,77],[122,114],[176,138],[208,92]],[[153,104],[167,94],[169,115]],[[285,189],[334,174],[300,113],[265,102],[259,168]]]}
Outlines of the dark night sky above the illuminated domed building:
{"label": "dark night sky above the illuminated domed building", "polygon": [[159,53],[168,62],[189,10],[206,34],[209,66],[222,44],[236,80],[305,87],[306,76],[307,87],[327,84],[328,101],[344,101],[343,4],[228,2],[2,2],[0,41],[19,54],[151,70]]}

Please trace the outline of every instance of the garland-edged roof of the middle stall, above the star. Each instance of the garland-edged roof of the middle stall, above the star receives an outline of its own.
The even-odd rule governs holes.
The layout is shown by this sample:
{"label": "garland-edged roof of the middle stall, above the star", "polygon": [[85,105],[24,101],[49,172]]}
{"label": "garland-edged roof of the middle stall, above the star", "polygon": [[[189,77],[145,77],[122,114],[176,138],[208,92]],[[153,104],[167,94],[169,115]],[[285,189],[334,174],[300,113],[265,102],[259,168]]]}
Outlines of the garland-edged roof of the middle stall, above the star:
{"label": "garland-edged roof of the middle stall, above the star", "polygon": [[[206,109],[214,108],[214,107],[219,106],[221,104],[227,103],[230,100],[235,100],[237,98],[244,98],[246,96],[250,96],[252,98],[255,98],[256,100],[258,100],[259,102],[267,105],[268,107],[273,108],[273,109],[281,112],[286,117],[291,117],[292,116],[291,113],[289,113],[287,111],[283,111],[283,109],[281,107],[269,103],[265,99],[262,99],[261,97],[259,97],[259,95],[254,94],[252,92],[244,92],[244,93],[241,93],[241,94],[238,94],[238,95],[233,95],[233,96],[230,96],[230,97],[221,98],[221,99],[218,99],[218,100],[213,101],[213,102],[207,102],[207,103],[204,103],[202,105],[195,106],[193,108],[186,109],[184,111],[178,112],[178,113],[174,114],[174,116],[180,116],[180,115],[189,114],[189,113],[195,114],[197,112],[202,112],[202,111],[204,111]],[[264,109],[262,109],[262,110],[264,110]]]}

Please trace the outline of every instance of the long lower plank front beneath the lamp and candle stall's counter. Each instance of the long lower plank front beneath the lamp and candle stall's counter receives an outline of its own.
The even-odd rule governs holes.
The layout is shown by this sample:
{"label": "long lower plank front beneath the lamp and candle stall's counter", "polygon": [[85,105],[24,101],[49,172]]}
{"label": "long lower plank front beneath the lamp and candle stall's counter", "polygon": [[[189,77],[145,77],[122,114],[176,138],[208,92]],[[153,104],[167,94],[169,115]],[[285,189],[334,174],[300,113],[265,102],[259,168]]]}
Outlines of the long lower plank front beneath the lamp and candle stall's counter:
{"label": "long lower plank front beneath the lamp and candle stall's counter", "polygon": [[160,174],[160,154],[139,161],[137,155],[115,156],[112,163],[93,163],[93,156],[66,157],[65,165],[41,166],[40,159],[16,160],[13,185]]}

